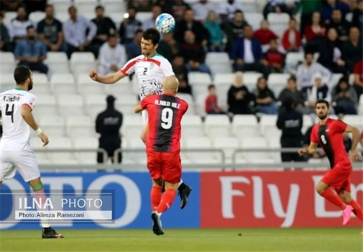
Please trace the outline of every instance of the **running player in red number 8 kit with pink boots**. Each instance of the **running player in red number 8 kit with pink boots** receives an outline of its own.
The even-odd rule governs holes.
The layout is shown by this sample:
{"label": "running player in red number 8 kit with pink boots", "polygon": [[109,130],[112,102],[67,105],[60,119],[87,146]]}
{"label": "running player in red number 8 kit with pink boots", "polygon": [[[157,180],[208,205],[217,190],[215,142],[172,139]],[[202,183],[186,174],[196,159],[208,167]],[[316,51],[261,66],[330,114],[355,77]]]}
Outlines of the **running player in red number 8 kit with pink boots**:
{"label": "running player in red number 8 kit with pink boots", "polygon": [[[351,198],[350,174],[352,172],[352,164],[343,144],[343,132],[352,133],[351,159],[353,161],[360,160],[360,155],[357,151],[360,139],[359,130],[342,121],[330,119],[328,117],[329,102],[326,100],[318,100],[316,102],[315,112],[319,117],[319,123],[314,125],[311,130],[309,148],[299,150],[299,154],[312,155],[316,152],[318,144],[322,146],[329,159],[331,169],[319,181],[316,186],[317,192],[343,210],[343,225],[349,222],[352,211],[359,220],[363,221],[362,207]],[[329,187],[333,187],[339,195],[330,190]]]}

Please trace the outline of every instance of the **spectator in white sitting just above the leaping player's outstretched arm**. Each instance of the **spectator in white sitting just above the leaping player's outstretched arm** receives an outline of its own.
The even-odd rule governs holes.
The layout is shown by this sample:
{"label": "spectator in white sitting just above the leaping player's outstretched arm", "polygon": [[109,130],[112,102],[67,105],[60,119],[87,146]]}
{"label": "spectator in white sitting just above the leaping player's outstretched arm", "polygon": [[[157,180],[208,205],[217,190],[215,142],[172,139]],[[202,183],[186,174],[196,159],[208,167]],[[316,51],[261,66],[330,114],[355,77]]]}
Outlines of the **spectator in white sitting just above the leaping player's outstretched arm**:
{"label": "spectator in white sitting just above the leaping player's outstretched arm", "polygon": [[117,72],[126,63],[125,47],[117,43],[115,35],[110,35],[107,43],[99,49],[99,75]]}

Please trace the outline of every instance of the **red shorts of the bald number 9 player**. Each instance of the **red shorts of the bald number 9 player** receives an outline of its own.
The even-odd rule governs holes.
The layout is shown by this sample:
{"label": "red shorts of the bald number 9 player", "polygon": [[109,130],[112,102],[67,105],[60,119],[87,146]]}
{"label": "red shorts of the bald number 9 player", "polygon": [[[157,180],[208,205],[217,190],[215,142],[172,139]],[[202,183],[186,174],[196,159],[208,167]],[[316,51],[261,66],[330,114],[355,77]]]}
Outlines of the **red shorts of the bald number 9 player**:
{"label": "red shorts of the bald number 9 player", "polygon": [[179,153],[147,151],[147,169],[153,180],[162,178],[169,183],[179,183],[181,179],[181,159]]}

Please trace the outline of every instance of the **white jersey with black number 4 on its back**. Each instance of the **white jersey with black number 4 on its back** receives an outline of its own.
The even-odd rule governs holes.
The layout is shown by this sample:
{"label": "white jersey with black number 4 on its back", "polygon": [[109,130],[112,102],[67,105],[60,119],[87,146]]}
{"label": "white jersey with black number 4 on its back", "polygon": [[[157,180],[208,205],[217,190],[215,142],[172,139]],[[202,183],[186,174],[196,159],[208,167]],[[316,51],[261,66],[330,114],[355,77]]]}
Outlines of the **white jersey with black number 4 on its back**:
{"label": "white jersey with black number 4 on its back", "polygon": [[1,151],[30,150],[30,126],[21,116],[21,106],[33,110],[36,96],[23,89],[11,89],[0,94],[0,109],[3,124]]}

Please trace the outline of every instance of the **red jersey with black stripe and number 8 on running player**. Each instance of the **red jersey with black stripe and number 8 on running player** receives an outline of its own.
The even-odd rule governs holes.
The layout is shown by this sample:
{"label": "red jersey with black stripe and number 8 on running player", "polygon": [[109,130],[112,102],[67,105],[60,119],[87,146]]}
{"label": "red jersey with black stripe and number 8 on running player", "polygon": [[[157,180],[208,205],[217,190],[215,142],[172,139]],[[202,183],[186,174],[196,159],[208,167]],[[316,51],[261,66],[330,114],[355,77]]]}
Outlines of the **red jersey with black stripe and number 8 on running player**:
{"label": "red jersey with black stripe and number 8 on running player", "polygon": [[[311,130],[310,140],[322,146],[329,159],[330,168],[337,164],[350,163],[343,140],[343,133],[346,129],[346,123],[328,118],[324,125],[316,124]],[[345,166],[343,165],[343,167]]]}

